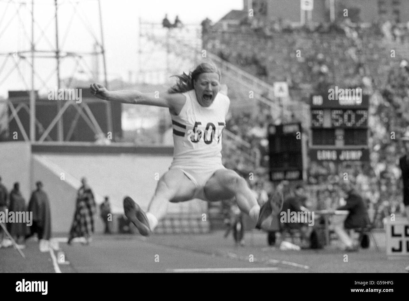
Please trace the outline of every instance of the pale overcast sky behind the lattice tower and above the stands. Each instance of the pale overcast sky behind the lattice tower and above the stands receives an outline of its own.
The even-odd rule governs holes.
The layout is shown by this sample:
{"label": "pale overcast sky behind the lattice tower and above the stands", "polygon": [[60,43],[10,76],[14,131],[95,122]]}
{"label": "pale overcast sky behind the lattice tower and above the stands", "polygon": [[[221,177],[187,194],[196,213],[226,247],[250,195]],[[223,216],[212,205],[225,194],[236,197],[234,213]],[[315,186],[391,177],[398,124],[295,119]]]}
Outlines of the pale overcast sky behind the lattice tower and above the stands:
{"label": "pale overcast sky behind the lattice tower and above the stands", "polygon": [[[24,1],[19,3],[22,2]],[[72,20],[71,16],[74,11],[72,5],[67,4],[67,0],[61,0],[61,2],[65,2],[58,11],[61,49],[65,51],[91,51],[94,40],[91,38],[87,27],[84,26],[83,20],[86,23],[90,23],[94,34],[99,38],[97,2],[94,0],[79,1],[76,9],[80,11],[80,14],[75,14]],[[31,1],[28,0],[27,3],[27,7],[31,7]],[[48,24],[45,36],[50,41],[48,43],[44,38],[41,38],[39,35],[41,31],[35,27],[36,40],[40,40],[37,43],[37,48],[52,49],[51,44],[55,45],[55,25],[52,20],[54,16],[54,0],[36,0],[34,3],[36,22],[42,28],[47,27],[46,25]],[[118,75],[127,79],[128,70],[137,70],[139,18],[145,21],[161,23],[164,15],[168,14],[168,18],[172,23],[175,16],[178,15],[185,24],[200,24],[206,17],[216,22],[231,9],[243,9],[243,0],[101,0],[107,70],[110,78]],[[30,45],[27,38],[31,35],[29,10],[20,7],[20,18],[24,20],[24,26],[21,25],[21,22],[15,16],[16,6],[14,4],[10,4],[7,7],[7,1],[0,0],[0,18],[3,13],[4,18],[0,20],[0,33],[4,33],[0,36],[0,53],[29,50]],[[79,18],[79,15],[82,16],[82,20]],[[72,22],[71,29],[65,37],[65,31],[70,20]],[[10,25],[4,31],[9,21],[11,21]],[[0,66],[2,66],[3,61],[4,57],[0,57]],[[36,69],[38,73],[45,74],[43,77],[47,77],[49,72],[46,69],[51,66],[49,63],[51,61],[37,61]],[[29,74],[28,65],[24,66],[24,63],[21,64],[21,70],[23,73]],[[92,66],[92,62],[88,63]],[[13,66],[10,60],[2,73],[0,73],[0,95],[5,95],[7,90],[25,89],[22,80],[16,72],[15,76],[10,75],[8,80],[1,84],[1,80]],[[62,77],[67,76],[73,66],[73,62],[68,60],[62,61]],[[49,70],[52,70],[52,68],[49,68]],[[27,77],[26,81],[30,82],[29,77]]]}

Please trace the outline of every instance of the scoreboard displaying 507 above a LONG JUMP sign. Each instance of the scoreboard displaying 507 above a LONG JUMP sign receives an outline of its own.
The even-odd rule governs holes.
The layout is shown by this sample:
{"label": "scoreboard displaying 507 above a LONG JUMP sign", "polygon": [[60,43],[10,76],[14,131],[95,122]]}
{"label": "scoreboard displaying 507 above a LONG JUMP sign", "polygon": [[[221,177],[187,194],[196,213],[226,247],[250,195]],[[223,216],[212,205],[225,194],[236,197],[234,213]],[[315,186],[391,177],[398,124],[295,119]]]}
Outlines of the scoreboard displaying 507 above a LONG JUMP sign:
{"label": "scoreboard displaying 507 above a LONG JUMP sign", "polygon": [[310,159],[369,161],[369,95],[333,98],[328,94],[311,96]]}

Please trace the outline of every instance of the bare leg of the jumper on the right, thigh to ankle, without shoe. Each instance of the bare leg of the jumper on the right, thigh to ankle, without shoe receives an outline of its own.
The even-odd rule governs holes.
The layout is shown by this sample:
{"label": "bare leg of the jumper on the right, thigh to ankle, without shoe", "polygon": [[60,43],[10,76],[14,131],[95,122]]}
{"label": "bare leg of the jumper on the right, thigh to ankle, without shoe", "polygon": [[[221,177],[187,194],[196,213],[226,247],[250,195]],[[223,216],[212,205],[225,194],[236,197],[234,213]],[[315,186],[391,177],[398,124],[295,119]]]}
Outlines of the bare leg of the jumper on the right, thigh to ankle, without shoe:
{"label": "bare leg of the jumper on the right, thigh to ankle, without shoe", "polygon": [[217,170],[205,184],[205,195],[209,201],[236,198],[237,206],[246,214],[258,202],[243,177],[234,170]]}

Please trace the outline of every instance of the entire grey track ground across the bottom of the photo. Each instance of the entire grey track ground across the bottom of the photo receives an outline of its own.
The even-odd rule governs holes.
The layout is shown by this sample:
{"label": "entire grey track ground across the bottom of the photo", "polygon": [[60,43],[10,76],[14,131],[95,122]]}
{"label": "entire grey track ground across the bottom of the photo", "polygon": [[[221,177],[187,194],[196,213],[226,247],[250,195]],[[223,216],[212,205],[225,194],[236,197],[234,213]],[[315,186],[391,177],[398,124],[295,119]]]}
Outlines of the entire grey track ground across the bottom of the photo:
{"label": "entire grey track ground across the bottom of the photo", "polygon": [[[38,242],[29,240],[23,259],[12,248],[0,249],[0,272],[405,272],[407,259],[388,260],[385,249],[360,249],[348,253],[335,247],[321,250],[282,251],[267,247],[266,234],[247,233],[245,247],[236,247],[222,231],[198,235],[94,235],[88,246],[67,245],[59,240],[61,251],[40,253]],[[65,263],[56,264],[63,254]],[[252,260],[250,260],[252,259]]]}

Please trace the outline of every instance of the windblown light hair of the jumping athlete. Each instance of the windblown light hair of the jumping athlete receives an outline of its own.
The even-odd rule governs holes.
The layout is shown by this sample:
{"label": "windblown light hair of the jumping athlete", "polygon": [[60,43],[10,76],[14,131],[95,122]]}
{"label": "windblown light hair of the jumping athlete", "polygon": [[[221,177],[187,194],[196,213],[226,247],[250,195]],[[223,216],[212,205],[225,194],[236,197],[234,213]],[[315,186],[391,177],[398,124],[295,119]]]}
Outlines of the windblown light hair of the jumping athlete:
{"label": "windblown light hair of the jumping athlete", "polygon": [[193,90],[193,81],[196,81],[202,73],[217,73],[219,75],[220,81],[220,70],[213,63],[200,63],[195,70],[190,71],[189,73],[183,72],[181,75],[172,75],[177,77],[177,82],[169,90],[168,93],[184,93],[190,90]]}

